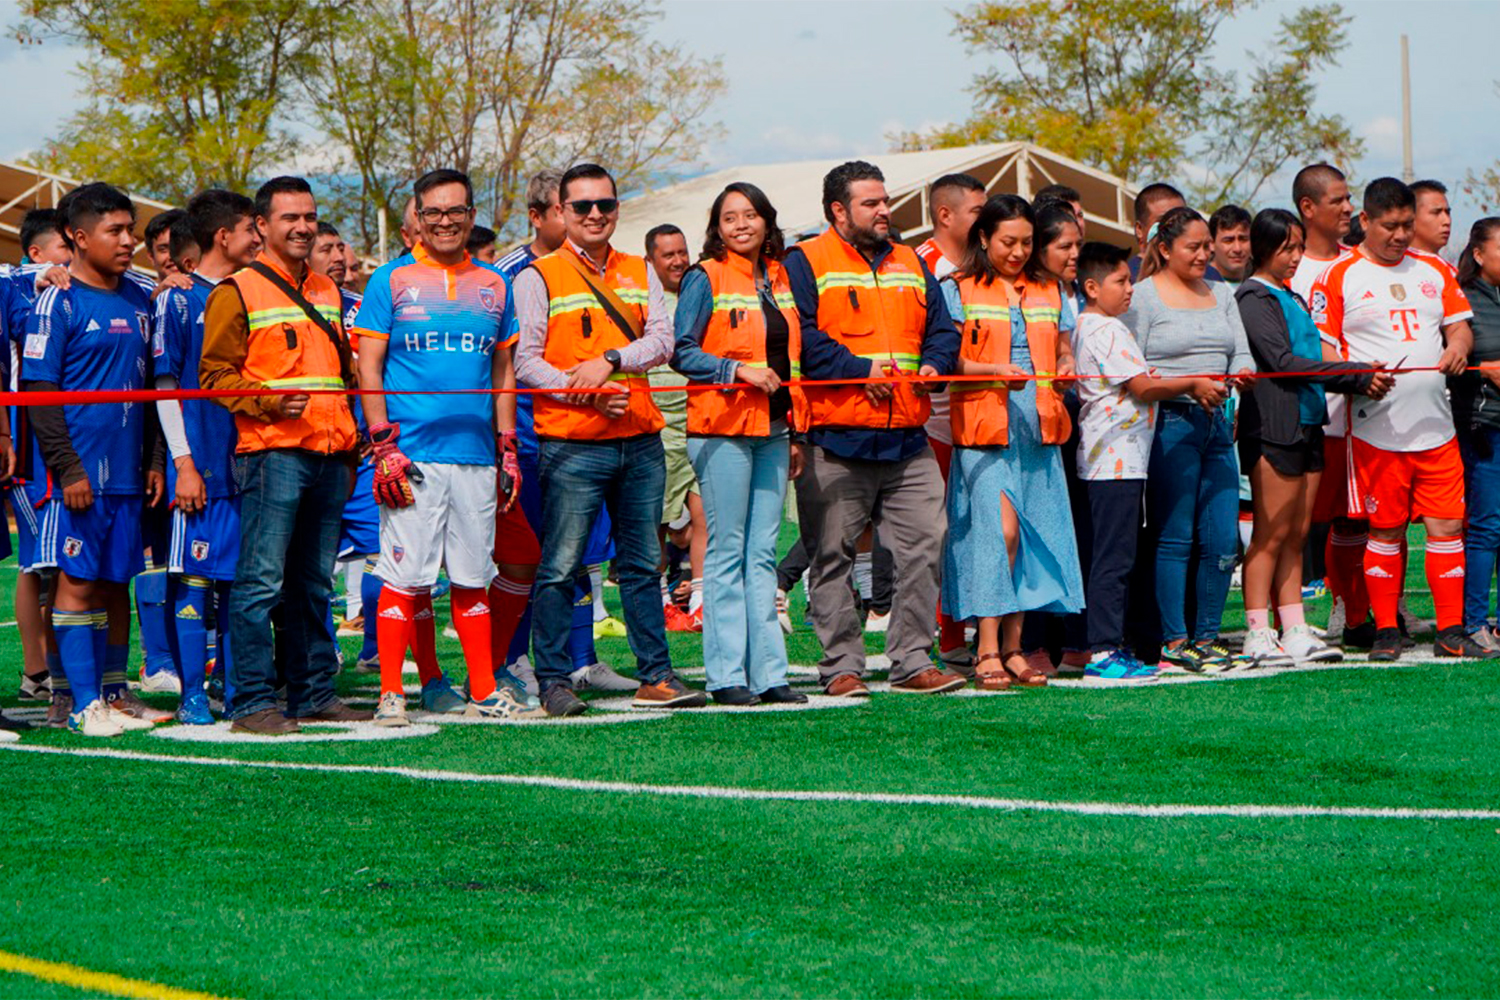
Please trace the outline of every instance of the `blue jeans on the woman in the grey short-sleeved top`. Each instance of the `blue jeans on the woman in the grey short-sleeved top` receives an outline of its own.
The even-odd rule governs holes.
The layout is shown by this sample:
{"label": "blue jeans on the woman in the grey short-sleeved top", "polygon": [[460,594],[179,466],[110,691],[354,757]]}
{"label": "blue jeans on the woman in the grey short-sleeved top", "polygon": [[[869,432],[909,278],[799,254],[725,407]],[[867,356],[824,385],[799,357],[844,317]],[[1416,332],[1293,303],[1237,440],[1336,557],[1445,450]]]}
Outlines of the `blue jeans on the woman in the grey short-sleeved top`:
{"label": "blue jeans on the woman in the grey short-sleeved top", "polygon": [[1239,543],[1239,465],[1228,418],[1197,403],[1162,403],[1150,445],[1148,504],[1156,538],[1161,637],[1188,637],[1188,564],[1198,556],[1192,639],[1218,639]]}

